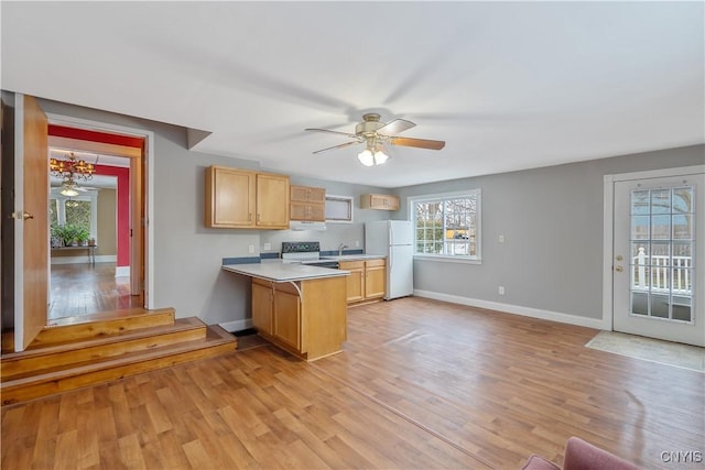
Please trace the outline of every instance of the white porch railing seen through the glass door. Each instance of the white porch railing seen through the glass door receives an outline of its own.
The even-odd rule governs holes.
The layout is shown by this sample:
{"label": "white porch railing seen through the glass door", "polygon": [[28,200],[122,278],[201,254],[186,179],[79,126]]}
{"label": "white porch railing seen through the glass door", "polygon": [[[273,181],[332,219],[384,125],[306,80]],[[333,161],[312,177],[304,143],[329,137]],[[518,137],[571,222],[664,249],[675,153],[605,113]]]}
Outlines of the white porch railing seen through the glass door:
{"label": "white porch railing seen through the glass door", "polygon": [[[691,294],[691,256],[651,256],[651,264],[648,263],[647,253],[643,248],[639,248],[639,254],[633,258],[633,288],[639,291],[663,291],[674,294]],[[669,264],[672,262],[673,264]],[[647,274],[649,269],[649,274]],[[669,274],[673,270],[673,278]],[[672,287],[672,288],[671,288]]]}

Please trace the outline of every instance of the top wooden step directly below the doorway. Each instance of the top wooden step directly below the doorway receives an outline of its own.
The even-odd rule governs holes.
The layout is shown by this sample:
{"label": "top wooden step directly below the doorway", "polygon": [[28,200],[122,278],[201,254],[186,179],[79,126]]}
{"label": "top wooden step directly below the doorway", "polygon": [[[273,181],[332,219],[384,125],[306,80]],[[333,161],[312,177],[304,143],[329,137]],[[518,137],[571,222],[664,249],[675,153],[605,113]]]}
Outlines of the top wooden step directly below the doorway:
{"label": "top wooden step directly below the doorway", "polygon": [[44,348],[48,345],[77,341],[99,336],[117,335],[135,329],[173,325],[174,318],[174,308],[159,308],[154,310],[127,308],[82,317],[70,317],[64,319],[62,324],[45,327],[28,349]]}

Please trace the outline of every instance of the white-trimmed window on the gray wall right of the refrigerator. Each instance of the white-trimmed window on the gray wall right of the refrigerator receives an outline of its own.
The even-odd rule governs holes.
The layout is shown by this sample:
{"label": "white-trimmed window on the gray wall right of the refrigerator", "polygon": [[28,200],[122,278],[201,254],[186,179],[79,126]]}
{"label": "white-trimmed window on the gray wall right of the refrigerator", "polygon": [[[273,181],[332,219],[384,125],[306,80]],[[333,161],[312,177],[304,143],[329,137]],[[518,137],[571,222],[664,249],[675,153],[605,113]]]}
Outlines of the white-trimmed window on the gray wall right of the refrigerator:
{"label": "white-trimmed window on the gray wall right of the refrigerator", "polygon": [[414,254],[480,260],[480,189],[410,200]]}

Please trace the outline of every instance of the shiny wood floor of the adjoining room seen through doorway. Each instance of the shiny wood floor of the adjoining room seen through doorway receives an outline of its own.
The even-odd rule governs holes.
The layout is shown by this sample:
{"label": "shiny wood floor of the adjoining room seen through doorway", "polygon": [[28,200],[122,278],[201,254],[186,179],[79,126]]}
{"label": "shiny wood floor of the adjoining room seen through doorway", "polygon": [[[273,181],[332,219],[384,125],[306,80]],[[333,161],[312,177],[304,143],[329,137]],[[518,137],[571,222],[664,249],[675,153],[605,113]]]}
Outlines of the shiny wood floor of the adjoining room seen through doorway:
{"label": "shiny wood floor of the adjoining room seen through doorway", "polygon": [[115,263],[53,264],[48,320],[141,307],[130,295],[130,277],[116,277]]}

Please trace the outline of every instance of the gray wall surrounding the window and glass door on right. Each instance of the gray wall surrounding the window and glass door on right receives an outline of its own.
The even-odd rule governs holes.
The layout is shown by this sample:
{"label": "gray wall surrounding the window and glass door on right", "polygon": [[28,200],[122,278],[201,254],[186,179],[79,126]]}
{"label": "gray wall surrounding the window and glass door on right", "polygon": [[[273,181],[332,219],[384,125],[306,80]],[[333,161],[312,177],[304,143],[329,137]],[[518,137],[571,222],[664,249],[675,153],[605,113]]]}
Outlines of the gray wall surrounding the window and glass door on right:
{"label": "gray wall surrounding the window and glass door on right", "polygon": [[481,264],[415,260],[414,288],[601,318],[604,175],[704,163],[696,145],[400,188],[401,218],[410,196],[482,192]]}

